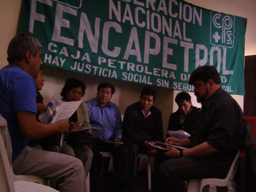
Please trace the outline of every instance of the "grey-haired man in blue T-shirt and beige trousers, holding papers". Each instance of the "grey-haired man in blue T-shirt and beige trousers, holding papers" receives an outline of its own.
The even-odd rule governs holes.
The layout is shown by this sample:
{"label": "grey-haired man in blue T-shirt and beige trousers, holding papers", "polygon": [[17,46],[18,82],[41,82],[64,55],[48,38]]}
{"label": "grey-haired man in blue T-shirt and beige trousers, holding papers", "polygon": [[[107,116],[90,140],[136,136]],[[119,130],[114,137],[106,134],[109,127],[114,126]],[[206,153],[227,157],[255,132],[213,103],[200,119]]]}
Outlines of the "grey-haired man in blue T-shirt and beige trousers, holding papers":
{"label": "grey-haired man in blue T-shirt and beige trousers, holding papers", "polygon": [[15,36],[8,46],[9,65],[0,70],[0,113],[7,120],[14,174],[54,179],[61,192],[85,192],[85,172],[79,159],[27,146],[28,138],[42,138],[69,129],[67,119],[52,124],[36,120],[36,86],[42,65],[40,41],[31,34]]}

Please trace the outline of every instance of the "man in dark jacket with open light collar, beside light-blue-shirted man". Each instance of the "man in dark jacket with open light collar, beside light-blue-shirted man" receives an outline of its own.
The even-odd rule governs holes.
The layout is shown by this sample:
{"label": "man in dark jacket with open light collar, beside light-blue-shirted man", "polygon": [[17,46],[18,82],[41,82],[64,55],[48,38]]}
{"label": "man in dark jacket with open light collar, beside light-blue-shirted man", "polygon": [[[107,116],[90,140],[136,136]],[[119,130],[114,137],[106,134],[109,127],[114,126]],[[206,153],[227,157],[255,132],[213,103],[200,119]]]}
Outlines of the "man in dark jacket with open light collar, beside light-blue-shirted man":
{"label": "man in dark jacket with open light collar, beside light-blue-shirted man", "polygon": [[135,181],[139,152],[155,154],[151,140],[162,140],[162,113],[154,106],[156,92],[142,89],[140,101],[127,107],[122,124],[122,139],[129,148],[129,178]]}

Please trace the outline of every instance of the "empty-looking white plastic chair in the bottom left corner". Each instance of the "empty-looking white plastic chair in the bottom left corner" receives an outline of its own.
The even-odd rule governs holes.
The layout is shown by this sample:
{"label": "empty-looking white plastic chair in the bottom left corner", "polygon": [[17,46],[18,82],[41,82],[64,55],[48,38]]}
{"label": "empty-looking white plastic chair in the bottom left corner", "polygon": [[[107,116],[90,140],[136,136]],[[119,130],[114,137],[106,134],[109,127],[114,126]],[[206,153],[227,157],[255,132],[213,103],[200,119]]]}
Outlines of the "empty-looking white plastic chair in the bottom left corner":
{"label": "empty-looking white plastic chair in the bottom left corner", "polygon": [[6,148],[0,134],[0,187],[1,192],[58,192],[57,190],[28,181],[14,181]]}

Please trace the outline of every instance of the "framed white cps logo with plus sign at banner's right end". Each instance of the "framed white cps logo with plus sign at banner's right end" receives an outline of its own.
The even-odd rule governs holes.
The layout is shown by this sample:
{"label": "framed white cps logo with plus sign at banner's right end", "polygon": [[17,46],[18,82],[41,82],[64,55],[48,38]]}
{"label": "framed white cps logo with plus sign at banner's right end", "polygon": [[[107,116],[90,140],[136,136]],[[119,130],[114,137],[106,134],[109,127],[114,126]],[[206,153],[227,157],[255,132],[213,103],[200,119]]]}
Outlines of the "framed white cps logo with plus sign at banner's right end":
{"label": "framed white cps logo with plus sign at banner's right end", "polygon": [[211,12],[210,42],[212,45],[234,46],[235,16]]}

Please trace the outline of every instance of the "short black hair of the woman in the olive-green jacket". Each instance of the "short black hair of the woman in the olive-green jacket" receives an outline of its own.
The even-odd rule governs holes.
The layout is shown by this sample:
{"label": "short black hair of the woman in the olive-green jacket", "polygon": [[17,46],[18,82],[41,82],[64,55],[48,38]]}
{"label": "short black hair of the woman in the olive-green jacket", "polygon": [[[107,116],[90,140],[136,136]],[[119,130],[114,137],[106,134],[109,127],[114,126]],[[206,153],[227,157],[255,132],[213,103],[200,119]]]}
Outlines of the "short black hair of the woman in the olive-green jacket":
{"label": "short black hair of the woman in the olive-green jacket", "polygon": [[76,88],[76,87],[80,87],[82,88],[82,96],[84,96],[85,94],[85,89],[86,89],[86,84],[84,82],[82,82],[79,79],[76,78],[69,78],[65,80],[65,85],[62,88],[61,91],[61,97],[63,97],[64,99],[66,99],[66,93],[69,92],[71,89]]}

